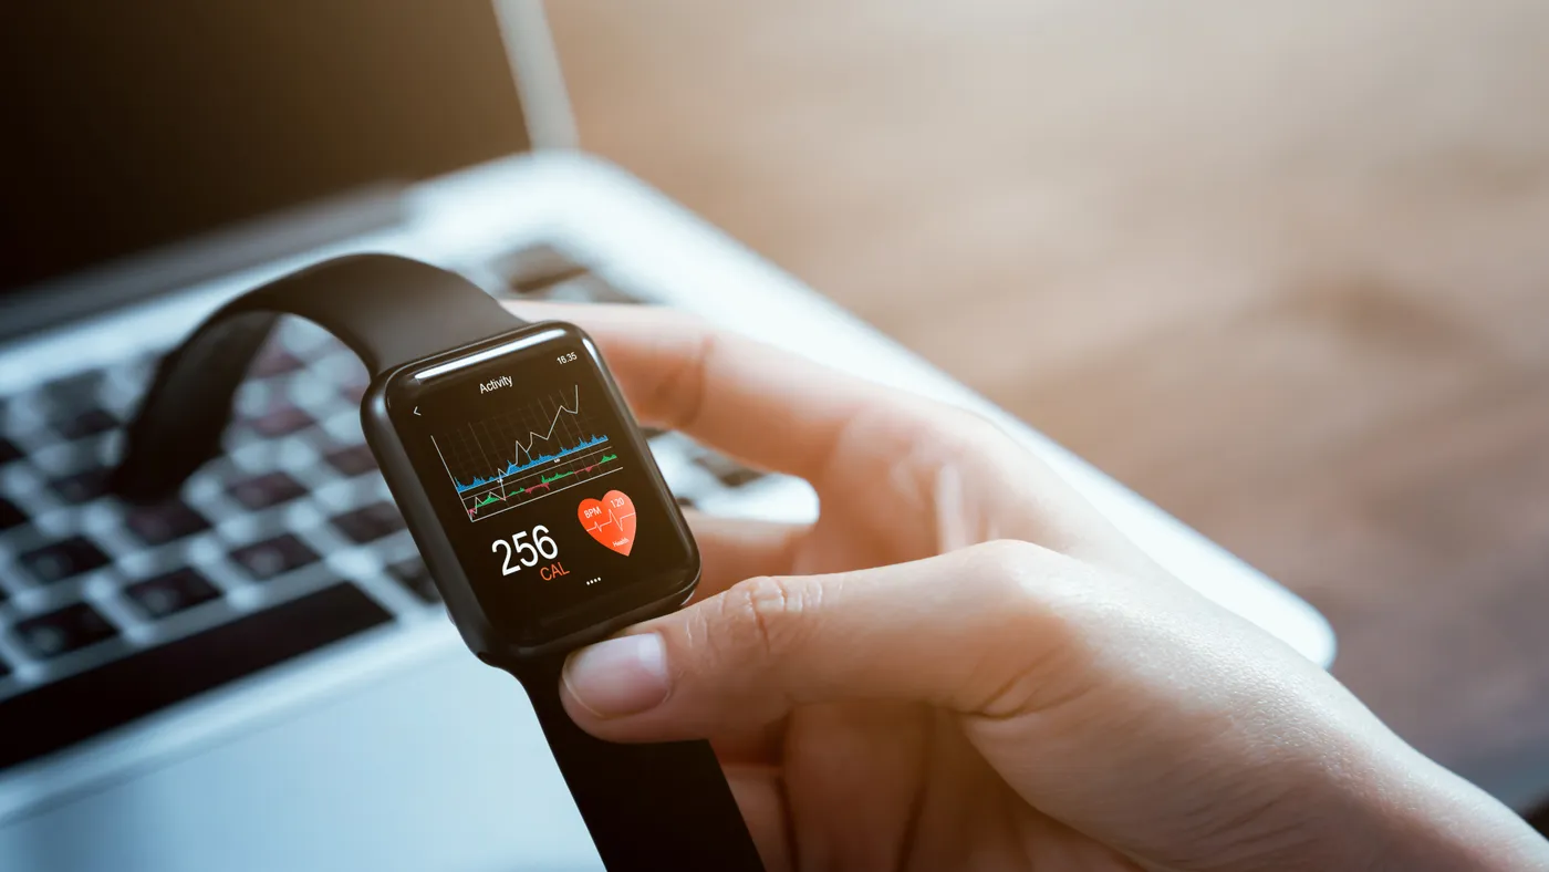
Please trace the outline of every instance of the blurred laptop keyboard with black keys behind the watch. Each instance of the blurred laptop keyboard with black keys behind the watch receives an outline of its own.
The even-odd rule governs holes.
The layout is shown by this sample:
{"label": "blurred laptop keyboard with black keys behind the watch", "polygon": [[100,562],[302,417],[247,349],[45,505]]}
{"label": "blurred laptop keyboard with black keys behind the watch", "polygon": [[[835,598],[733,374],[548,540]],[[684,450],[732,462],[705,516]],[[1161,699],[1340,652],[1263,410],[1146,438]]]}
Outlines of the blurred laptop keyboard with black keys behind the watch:
{"label": "blurred laptop keyboard with black keys behind the watch", "polygon": [[[483,265],[500,293],[638,302],[556,249]],[[150,506],[105,494],[155,355],[0,397],[0,770],[389,624],[443,620],[359,426],[367,373],[285,321],[222,457]],[[678,502],[764,479],[671,432]]]}

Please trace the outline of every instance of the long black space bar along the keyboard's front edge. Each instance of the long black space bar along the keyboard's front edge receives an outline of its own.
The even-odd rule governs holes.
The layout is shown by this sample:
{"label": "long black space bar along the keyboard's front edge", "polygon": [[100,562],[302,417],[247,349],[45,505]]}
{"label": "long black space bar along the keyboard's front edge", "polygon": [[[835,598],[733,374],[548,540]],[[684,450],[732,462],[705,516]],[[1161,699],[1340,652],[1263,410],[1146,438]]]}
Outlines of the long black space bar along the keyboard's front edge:
{"label": "long black space bar along the keyboard's front edge", "polygon": [[335,584],[263,612],[0,700],[0,768],[251,675],[392,616],[353,584]]}

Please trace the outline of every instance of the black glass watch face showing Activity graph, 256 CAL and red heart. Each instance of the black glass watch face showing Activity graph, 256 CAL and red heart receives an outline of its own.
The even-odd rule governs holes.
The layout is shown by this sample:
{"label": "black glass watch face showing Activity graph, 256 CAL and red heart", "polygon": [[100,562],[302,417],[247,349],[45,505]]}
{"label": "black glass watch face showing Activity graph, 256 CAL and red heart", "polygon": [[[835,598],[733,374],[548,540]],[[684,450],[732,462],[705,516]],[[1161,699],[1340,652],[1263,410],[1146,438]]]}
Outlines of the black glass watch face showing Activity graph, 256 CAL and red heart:
{"label": "black glass watch face showing Activity graph, 256 CAL and red heart", "polygon": [[[699,554],[578,328],[397,373],[387,412],[485,618],[536,646],[682,596]],[[434,567],[432,567],[434,568]]]}

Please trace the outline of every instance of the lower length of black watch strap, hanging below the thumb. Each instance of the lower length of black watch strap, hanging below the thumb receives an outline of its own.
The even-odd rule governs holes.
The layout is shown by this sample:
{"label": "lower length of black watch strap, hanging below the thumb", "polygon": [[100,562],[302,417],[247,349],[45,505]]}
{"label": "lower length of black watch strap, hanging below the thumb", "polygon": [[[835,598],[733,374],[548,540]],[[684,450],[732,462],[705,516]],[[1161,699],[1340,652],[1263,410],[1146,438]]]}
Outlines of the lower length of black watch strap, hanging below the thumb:
{"label": "lower length of black watch strap, hanging below the thumb", "polygon": [[626,745],[582,731],[559,702],[564,657],[514,666],[603,866],[762,872],[709,742]]}

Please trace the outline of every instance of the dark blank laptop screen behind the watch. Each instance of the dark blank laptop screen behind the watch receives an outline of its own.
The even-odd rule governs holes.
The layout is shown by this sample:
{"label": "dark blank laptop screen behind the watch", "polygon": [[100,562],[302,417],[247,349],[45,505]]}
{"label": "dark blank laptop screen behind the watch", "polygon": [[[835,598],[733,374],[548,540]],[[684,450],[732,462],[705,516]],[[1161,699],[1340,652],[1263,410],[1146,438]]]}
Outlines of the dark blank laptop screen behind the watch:
{"label": "dark blank laptop screen behind the watch", "polygon": [[528,147],[493,0],[0,8],[0,297]]}

